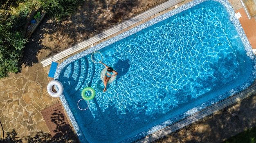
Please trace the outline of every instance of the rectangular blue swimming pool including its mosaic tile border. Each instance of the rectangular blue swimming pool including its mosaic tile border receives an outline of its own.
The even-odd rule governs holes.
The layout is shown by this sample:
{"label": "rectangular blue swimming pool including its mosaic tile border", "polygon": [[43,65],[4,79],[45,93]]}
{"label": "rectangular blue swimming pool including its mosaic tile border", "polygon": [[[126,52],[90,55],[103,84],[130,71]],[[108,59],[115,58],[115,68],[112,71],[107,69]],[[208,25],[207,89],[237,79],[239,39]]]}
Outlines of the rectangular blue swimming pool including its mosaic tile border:
{"label": "rectangular blue swimming pool including its mosaic tile border", "polygon": [[[60,98],[81,142],[136,141],[254,81],[251,47],[238,20],[225,10],[231,6],[218,2],[193,1],[58,67],[55,79],[64,85]],[[100,79],[103,66],[90,60],[94,51],[119,73],[106,93]],[[87,86],[96,97],[82,111],[77,102]],[[87,108],[87,103],[79,106]]]}

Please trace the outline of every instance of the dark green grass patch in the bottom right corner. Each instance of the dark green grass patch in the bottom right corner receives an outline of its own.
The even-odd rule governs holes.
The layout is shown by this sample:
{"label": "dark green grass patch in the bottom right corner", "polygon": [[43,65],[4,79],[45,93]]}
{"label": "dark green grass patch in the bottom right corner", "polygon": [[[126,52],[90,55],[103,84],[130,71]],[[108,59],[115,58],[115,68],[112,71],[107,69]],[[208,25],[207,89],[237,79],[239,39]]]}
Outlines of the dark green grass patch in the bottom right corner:
{"label": "dark green grass patch in the bottom right corner", "polygon": [[222,143],[256,143],[256,127],[232,136]]}

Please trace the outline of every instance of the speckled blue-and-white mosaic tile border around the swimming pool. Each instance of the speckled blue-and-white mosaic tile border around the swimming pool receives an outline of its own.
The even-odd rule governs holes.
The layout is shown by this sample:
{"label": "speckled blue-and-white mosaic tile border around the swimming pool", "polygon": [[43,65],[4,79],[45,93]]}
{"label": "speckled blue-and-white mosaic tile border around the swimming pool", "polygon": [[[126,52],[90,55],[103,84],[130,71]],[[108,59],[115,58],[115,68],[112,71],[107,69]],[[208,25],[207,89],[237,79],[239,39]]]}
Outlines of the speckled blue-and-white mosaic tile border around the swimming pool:
{"label": "speckled blue-and-white mosaic tile border around the swimming pool", "polygon": [[[147,28],[147,27],[149,27],[149,26],[151,26],[153,24],[156,24],[156,23],[158,23],[158,22],[160,22],[162,20],[165,20],[165,19],[167,19],[167,18],[169,18],[169,17],[171,17],[173,15],[176,15],[177,13],[185,11],[185,10],[187,10],[187,9],[189,9],[191,7],[194,7],[195,5],[198,5],[198,4],[200,4],[202,2],[205,2],[205,1],[208,1],[208,0],[194,0],[192,2],[189,2],[188,4],[185,4],[185,5],[181,6],[181,7],[178,7],[177,9],[174,9],[172,11],[169,11],[168,13],[165,13],[165,14],[163,14],[163,15],[161,15],[161,16],[153,19],[153,20],[145,22],[144,24],[141,24],[141,25],[139,25],[139,26],[137,26],[137,27],[135,27],[133,29],[130,29],[130,30],[128,30],[128,31],[126,31],[126,32],[124,32],[124,33],[122,33],[120,35],[117,35],[116,37],[113,37],[113,38],[111,38],[111,39],[109,39],[109,40],[107,40],[105,42],[102,42],[102,43],[100,43],[100,44],[98,44],[98,45],[96,45],[96,46],[94,46],[94,47],[92,47],[92,48],[90,48],[90,49],[88,49],[86,51],[83,51],[83,52],[81,52],[79,54],[76,54],[76,55],[66,59],[64,62],[62,62],[58,66],[58,68],[56,70],[56,73],[54,75],[54,79],[58,80],[58,77],[59,77],[59,75],[61,73],[61,70],[65,66],[70,64],[71,62],[75,61],[76,59],[79,59],[81,57],[89,55],[89,54],[93,53],[94,51],[98,51],[101,48],[109,46],[110,44],[113,44],[113,43],[115,43],[115,42],[117,42],[119,40],[122,40],[122,39],[124,39],[124,38],[126,38],[126,37],[128,37],[128,36],[130,36],[130,35],[132,35],[134,33],[137,33],[138,31],[141,31],[141,30],[143,30],[143,29],[145,29],[145,28]],[[216,104],[216,103],[218,103],[218,102],[220,102],[220,101],[222,101],[224,99],[227,99],[231,95],[234,95],[234,94],[236,94],[236,93],[238,93],[238,92],[240,92],[242,90],[245,90],[246,88],[248,88],[254,82],[254,80],[256,78],[256,70],[255,70],[256,69],[256,56],[252,53],[252,47],[249,44],[249,41],[248,41],[248,39],[247,39],[247,37],[245,35],[245,32],[243,31],[243,28],[242,28],[239,20],[235,16],[236,13],[235,13],[233,7],[231,6],[231,4],[227,0],[213,0],[213,1],[220,2],[226,8],[226,10],[228,11],[229,16],[230,16],[230,20],[234,23],[236,31],[238,32],[238,35],[240,36],[240,39],[242,40],[242,43],[243,43],[243,45],[245,47],[247,55],[252,60],[253,72],[251,73],[249,79],[244,84],[242,84],[242,85],[240,85],[240,86],[230,90],[229,92],[225,92],[224,94],[219,95],[218,97],[215,97],[215,98],[213,98],[213,99],[211,99],[211,100],[209,100],[207,102],[204,102],[201,105],[196,106],[195,108],[192,108],[191,110],[188,110],[188,111],[186,111],[186,112],[184,112],[182,114],[179,114],[176,117],[173,117],[173,118],[171,118],[171,119],[169,119],[167,121],[164,121],[163,123],[160,123],[159,125],[156,125],[156,126],[150,128],[148,130],[145,130],[144,132],[141,132],[141,133],[139,133],[139,134],[137,134],[135,136],[132,136],[132,137],[130,137],[128,139],[125,139],[124,141],[121,141],[121,143],[134,142],[134,141],[137,141],[137,140],[143,138],[144,136],[148,136],[150,134],[153,134],[154,132],[157,132],[157,131],[159,131],[159,130],[161,130],[163,128],[166,128],[167,126],[169,126],[169,125],[171,125],[173,123],[176,123],[176,122],[180,121],[181,119],[184,119],[186,117],[189,117],[190,115],[195,114],[196,112],[199,112],[200,110],[203,110],[203,109],[205,109],[205,108],[207,108],[209,106],[212,106],[212,105],[214,105],[214,104]],[[74,118],[74,116],[72,114],[72,111],[69,108],[69,105],[68,105],[64,95],[61,95],[60,99],[61,99],[61,102],[63,103],[63,106],[64,106],[64,108],[65,108],[69,118],[70,118],[70,121],[72,122],[74,130],[76,131],[77,135],[79,136],[79,140],[81,141],[81,143],[88,143],[88,141],[85,139],[85,136],[83,136],[83,133],[81,132],[81,130],[79,128],[79,125],[76,123],[76,120],[75,120],[75,118]]]}

